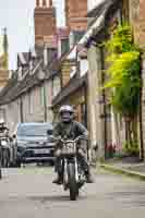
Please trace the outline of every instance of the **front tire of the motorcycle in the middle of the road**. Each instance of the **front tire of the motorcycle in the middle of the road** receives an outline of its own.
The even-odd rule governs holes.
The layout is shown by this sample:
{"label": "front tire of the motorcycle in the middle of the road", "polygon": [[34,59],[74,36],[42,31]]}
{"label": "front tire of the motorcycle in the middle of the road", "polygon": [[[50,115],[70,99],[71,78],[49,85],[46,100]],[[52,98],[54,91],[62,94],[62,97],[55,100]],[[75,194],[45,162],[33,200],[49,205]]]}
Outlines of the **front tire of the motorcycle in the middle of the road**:
{"label": "front tire of the motorcycle in the middle of the road", "polygon": [[75,167],[73,164],[69,164],[68,166],[68,177],[70,184],[70,199],[76,201],[76,197],[78,196],[78,186],[75,180]]}

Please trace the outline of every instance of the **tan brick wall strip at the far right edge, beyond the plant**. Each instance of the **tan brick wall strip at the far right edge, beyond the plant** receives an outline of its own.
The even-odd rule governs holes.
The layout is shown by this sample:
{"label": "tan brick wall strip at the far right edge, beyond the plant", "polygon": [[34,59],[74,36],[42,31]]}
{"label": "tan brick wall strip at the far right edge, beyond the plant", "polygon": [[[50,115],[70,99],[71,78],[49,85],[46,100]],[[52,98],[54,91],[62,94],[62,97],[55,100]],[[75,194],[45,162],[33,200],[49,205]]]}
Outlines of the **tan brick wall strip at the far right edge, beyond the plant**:
{"label": "tan brick wall strip at the far right edge, beyond the plant", "polygon": [[129,0],[130,8],[130,22],[133,27],[134,40],[143,51],[142,55],[142,90],[141,90],[141,110],[140,110],[140,130],[141,130],[141,157],[145,159],[145,1],[143,0]]}

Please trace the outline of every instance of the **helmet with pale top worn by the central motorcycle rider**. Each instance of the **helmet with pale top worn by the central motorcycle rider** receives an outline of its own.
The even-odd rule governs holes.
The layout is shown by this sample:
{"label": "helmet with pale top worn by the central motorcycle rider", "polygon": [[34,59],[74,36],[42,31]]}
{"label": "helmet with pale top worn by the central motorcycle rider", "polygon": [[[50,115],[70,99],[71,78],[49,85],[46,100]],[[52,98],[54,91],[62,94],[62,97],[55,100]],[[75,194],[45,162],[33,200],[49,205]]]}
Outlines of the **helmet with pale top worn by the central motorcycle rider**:
{"label": "helmet with pale top worn by the central motorcycle rider", "polygon": [[69,123],[73,120],[74,110],[71,106],[62,106],[59,110],[62,122]]}

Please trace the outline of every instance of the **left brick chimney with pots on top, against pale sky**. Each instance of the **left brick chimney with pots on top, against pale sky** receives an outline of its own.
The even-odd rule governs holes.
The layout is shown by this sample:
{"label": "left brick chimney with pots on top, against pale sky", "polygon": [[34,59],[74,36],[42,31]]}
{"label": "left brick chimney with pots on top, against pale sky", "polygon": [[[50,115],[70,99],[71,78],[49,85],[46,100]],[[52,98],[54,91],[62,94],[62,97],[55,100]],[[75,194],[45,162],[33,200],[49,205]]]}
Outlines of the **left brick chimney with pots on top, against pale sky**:
{"label": "left brick chimney with pots on top, against pale sky", "polygon": [[44,46],[50,44],[56,35],[56,9],[52,0],[36,0],[35,8],[35,45]]}

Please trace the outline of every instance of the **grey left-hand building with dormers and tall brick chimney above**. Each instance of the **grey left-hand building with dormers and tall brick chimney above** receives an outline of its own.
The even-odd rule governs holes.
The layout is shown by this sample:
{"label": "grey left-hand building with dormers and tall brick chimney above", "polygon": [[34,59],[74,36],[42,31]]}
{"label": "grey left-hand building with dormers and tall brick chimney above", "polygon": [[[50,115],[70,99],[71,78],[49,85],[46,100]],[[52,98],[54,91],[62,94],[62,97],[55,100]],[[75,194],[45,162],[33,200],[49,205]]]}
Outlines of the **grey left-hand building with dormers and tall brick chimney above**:
{"label": "grey left-hand building with dormers and tall brick chimney above", "polygon": [[34,19],[35,48],[17,55],[17,70],[0,93],[1,110],[11,133],[19,122],[52,122],[51,100],[60,87],[52,2],[36,1]]}

